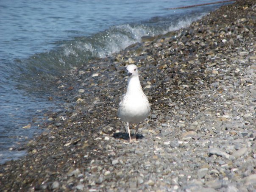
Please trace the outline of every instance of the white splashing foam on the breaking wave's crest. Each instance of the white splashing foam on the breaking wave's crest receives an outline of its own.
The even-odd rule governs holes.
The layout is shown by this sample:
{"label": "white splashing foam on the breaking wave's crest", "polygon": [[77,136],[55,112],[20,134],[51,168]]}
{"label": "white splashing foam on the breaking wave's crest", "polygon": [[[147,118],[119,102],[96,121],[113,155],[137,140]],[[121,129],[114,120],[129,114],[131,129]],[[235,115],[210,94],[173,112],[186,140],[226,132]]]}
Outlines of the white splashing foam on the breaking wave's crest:
{"label": "white splashing foam on the breaking wave's crest", "polygon": [[78,57],[79,60],[89,59],[90,57],[105,58],[136,42],[140,42],[142,36],[156,36],[167,33],[168,31],[186,28],[193,21],[200,19],[202,16],[203,15],[199,17],[180,18],[180,21],[170,24],[169,27],[165,26],[165,28],[143,24],[113,26],[91,37],[84,37],[77,39],[75,42],[72,42],[72,44],[66,44],[66,47],[64,47],[64,56],[75,56]]}

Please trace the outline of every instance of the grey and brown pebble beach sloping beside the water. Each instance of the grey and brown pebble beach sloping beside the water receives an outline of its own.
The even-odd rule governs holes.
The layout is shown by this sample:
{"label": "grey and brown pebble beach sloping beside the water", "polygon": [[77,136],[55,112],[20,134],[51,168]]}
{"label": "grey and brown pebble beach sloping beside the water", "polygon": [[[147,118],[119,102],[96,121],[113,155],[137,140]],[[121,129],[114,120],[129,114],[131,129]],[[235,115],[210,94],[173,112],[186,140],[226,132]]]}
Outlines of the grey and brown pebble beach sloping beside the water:
{"label": "grey and brown pebble beach sloping beside the water", "polygon": [[[152,104],[134,143],[117,119],[130,63]],[[256,0],[144,37],[56,81],[66,102],[27,156],[0,165],[0,189],[255,191],[255,80]]]}

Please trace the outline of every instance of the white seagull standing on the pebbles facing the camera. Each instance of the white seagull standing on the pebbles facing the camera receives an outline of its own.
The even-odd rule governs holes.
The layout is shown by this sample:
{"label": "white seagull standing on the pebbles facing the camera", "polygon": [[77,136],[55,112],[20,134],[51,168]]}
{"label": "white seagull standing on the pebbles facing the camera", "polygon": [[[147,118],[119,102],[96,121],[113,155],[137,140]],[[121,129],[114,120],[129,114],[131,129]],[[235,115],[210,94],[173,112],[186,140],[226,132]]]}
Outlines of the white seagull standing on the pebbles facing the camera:
{"label": "white seagull standing on the pebbles facing the camera", "polygon": [[126,93],[121,97],[117,115],[126,123],[127,127],[125,127],[125,131],[126,133],[128,132],[130,142],[132,142],[129,123],[137,124],[135,131],[136,140],[136,133],[139,128],[139,123],[145,120],[149,115],[150,104],[147,96],[142,91],[142,87],[139,82],[138,67],[131,64],[126,67],[126,71],[128,74],[127,90]]}

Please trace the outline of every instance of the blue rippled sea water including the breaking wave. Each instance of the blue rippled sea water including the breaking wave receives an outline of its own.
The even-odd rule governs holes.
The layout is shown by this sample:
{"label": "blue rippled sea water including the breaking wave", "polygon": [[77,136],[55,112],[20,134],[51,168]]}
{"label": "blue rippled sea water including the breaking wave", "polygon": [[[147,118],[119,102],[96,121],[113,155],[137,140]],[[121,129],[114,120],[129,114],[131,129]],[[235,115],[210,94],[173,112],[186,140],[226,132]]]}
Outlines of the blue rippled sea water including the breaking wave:
{"label": "blue rippled sea water including the breaking wave", "polygon": [[[198,0],[209,3],[217,0]],[[220,6],[166,8],[189,0],[12,0],[0,1],[0,163],[25,151],[20,142],[42,130],[31,123],[44,111],[53,82],[70,67],[103,58],[157,35],[189,25]]]}

